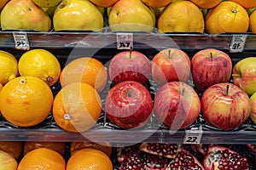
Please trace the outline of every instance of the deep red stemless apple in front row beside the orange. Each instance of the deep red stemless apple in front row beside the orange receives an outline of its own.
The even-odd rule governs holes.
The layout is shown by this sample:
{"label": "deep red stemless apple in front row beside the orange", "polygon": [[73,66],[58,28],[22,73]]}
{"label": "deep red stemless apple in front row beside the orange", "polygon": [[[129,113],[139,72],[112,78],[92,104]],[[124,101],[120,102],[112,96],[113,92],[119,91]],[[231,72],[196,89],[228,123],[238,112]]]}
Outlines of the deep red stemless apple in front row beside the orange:
{"label": "deep red stemless apple in front row beside the orange", "polygon": [[151,116],[152,110],[151,95],[139,82],[119,82],[108,92],[105,111],[108,119],[119,127],[142,127]]}

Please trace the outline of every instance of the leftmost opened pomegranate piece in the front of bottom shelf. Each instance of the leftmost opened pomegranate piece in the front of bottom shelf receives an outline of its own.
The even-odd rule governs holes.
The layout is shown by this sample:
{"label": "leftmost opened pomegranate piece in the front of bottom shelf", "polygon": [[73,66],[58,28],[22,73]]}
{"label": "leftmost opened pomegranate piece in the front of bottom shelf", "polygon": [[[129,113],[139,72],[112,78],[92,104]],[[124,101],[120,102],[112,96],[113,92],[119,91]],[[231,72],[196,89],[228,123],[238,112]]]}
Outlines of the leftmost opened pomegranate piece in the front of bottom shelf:
{"label": "leftmost opened pomegranate piece in the front of bottom shelf", "polygon": [[168,158],[146,152],[126,154],[119,170],[165,170]]}

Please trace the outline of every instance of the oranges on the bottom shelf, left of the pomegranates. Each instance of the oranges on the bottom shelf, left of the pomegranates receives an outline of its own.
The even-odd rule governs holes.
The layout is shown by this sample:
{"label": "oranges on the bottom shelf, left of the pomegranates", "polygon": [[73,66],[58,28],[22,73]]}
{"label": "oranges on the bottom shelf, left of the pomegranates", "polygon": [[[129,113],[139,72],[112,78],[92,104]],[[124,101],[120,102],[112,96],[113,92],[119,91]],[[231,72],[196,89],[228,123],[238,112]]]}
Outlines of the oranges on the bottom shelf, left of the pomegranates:
{"label": "oranges on the bottom shelf, left of the pomegranates", "polygon": [[[0,169],[3,170],[112,170],[112,147],[92,142],[8,141],[0,142]],[[77,148],[79,145],[79,148]]]}

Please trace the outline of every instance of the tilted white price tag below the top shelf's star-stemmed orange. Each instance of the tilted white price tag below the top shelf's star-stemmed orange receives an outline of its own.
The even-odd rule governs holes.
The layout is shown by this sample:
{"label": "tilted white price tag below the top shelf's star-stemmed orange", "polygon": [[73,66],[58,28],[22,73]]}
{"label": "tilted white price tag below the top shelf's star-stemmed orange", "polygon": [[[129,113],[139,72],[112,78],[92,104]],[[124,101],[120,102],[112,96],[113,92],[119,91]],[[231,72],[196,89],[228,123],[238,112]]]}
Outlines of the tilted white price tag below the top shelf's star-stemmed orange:
{"label": "tilted white price tag below the top shelf's star-stemmed orange", "polygon": [[233,35],[230,42],[230,53],[240,53],[243,51],[247,35]]}

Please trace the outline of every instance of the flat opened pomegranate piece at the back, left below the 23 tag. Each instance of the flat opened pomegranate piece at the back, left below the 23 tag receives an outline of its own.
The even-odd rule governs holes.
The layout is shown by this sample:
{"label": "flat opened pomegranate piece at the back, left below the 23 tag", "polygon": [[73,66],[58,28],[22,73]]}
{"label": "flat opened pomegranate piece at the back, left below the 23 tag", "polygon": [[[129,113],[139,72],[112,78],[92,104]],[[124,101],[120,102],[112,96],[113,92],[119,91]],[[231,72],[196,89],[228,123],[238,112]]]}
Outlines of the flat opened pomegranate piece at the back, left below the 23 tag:
{"label": "flat opened pomegranate piece at the back, left below the 23 tag", "polygon": [[149,154],[174,158],[180,150],[181,144],[143,143],[140,150]]}

